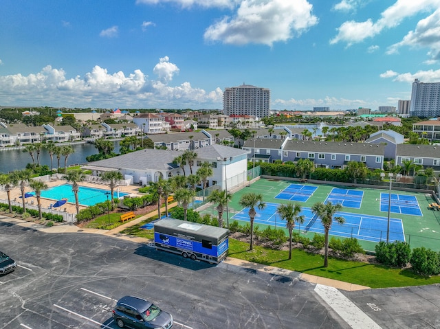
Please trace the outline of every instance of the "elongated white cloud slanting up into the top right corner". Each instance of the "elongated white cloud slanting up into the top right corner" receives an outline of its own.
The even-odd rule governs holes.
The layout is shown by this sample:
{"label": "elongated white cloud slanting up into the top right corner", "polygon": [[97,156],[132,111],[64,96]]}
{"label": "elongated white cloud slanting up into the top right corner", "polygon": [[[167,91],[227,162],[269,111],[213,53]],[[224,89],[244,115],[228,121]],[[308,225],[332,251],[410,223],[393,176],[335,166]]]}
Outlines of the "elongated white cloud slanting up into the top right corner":
{"label": "elongated white cloud slanting up into the top right corner", "polygon": [[381,13],[381,18],[376,22],[367,19],[364,22],[346,21],[338,27],[338,34],[331,39],[330,43],[360,43],[366,38],[372,38],[380,34],[384,29],[396,27],[404,19],[419,14],[436,10],[440,0],[397,0],[393,5]]}

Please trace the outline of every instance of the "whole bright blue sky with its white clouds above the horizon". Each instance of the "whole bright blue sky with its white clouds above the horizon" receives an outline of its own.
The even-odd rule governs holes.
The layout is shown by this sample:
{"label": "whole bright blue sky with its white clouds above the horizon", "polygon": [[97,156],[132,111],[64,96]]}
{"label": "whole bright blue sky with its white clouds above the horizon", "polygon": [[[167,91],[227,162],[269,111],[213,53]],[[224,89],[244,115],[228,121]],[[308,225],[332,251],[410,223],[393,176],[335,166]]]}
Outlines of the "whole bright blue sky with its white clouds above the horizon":
{"label": "whole bright blue sky with its white clouds above the horizon", "polygon": [[440,82],[440,0],[3,0],[0,105],[397,106]]}

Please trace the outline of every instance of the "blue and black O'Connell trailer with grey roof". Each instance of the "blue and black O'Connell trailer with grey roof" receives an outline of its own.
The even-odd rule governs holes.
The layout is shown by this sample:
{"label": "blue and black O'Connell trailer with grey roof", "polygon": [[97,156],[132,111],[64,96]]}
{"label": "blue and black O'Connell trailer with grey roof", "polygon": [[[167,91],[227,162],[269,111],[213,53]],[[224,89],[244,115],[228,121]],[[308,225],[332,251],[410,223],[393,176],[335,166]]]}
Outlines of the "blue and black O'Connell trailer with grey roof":
{"label": "blue and black O'Connell trailer with grey roof", "polygon": [[215,264],[228,253],[228,234],[228,229],[173,218],[159,220],[154,225],[156,249]]}

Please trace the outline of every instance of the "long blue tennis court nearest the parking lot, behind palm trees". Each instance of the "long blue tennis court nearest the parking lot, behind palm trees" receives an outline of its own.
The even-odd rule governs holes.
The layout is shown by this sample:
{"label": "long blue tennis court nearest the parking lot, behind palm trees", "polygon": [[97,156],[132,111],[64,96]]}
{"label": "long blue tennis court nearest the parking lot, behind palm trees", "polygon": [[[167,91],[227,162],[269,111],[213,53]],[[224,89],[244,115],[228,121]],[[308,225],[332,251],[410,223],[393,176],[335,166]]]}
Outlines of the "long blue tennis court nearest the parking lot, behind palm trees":
{"label": "long blue tennis court nearest the parking lot, behind palm trees", "polygon": [[[276,212],[278,203],[266,203],[265,209],[256,209],[254,223],[275,225],[285,227],[285,220]],[[235,220],[249,221],[249,208],[242,209],[241,212],[232,216]],[[300,231],[311,231],[324,234],[324,227],[317,216],[311,212],[311,208],[302,207],[300,215],[305,216],[303,224],[295,223],[295,229]],[[380,242],[386,240],[386,231],[388,226],[388,218],[381,216],[371,216],[364,214],[353,214],[350,212],[338,212],[336,216],[342,216],[345,219],[344,224],[338,224],[333,221],[330,234],[332,236],[341,236],[344,238],[357,238],[358,240],[366,240],[372,242]],[[395,240],[405,241],[404,227],[399,218],[390,218],[390,234],[389,241]]]}

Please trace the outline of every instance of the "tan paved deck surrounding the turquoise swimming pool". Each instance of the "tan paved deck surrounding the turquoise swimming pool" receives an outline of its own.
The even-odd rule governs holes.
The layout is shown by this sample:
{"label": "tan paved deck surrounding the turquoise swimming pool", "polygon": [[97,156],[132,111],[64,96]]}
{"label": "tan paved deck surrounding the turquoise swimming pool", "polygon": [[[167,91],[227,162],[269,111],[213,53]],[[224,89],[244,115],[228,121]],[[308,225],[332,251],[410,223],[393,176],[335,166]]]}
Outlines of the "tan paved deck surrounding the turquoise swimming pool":
{"label": "tan paved deck surrounding the turquoise swimming pool", "polygon": [[[64,184],[68,184],[68,182],[65,179],[57,179],[56,181],[46,181],[45,182],[47,184],[47,186],[49,188],[53,188],[54,186],[59,186],[59,185],[64,185]],[[83,181],[78,183],[78,185],[80,186],[84,186],[87,188],[99,188],[101,190],[109,190],[109,184],[97,184],[94,182],[89,182],[89,181]],[[123,193],[129,193],[129,194],[137,194],[137,190],[140,188],[139,185],[128,185],[128,186],[118,186],[120,192]],[[25,192],[32,192],[32,188],[30,188],[29,186],[26,186],[25,188]],[[116,192],[116,189],[113,191]],[[11,195],[11,201],[15,201],[16,203],[20,203],[21,204],[21,190],[20,188],[14,188],[12,189],[12,191],[10,192]],[[61,200],[61,198],[63,198],[62,195],[60,195],[60,198],[58,198],[58,200]],[[6,194],[5,191],[0,191],[0,199],[3,200],[8,200],[8,195]],[[33,201],[33,204],[32,204]],[[41,207],[42,208],[48,208],[51,204],[54,204],[57,200],[53,200],[50,198],[41,198]],[[35,205],[36,206],[36,197],[32,196],[30,198],[25,198],[25,203],[28,203],[29,205]],[[87,208],[87,206],[84,205],[80,205],[80,209],[85,209]],[[57,209],[57,208],[54,208]],[[70,203],[67,202],[65,203],[65,205],[63,205],[62,207],[59,207],[58,210],[60,212],[67,212],[69,214],[76,214],[76,206],[75,203]]]}

